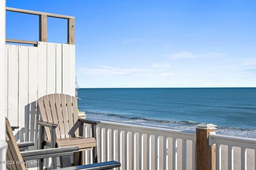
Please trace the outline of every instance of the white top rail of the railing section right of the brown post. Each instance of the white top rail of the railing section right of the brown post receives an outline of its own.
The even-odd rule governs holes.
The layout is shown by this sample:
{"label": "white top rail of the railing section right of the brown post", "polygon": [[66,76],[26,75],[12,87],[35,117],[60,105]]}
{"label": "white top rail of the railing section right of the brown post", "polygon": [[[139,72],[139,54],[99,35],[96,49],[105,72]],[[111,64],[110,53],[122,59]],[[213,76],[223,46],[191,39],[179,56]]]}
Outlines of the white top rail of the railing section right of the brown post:
{"label": "white top rail of the railing section right of the brown post", "polygon": [[234,137],[230,135],[213,134],[210,135],[209,145],[227,145],[247,149],[256,149],[256,139]]}

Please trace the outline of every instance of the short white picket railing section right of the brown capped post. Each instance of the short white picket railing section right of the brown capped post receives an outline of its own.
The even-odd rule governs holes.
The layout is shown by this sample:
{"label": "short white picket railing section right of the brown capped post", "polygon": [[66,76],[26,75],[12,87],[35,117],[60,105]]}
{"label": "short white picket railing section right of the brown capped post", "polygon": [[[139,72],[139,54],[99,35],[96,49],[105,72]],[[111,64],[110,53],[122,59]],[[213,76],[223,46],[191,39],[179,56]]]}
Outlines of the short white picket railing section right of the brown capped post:
{"label": "short white picket railing section right of the brown capped post", "polygon": [[[241,169],[247,169],[247,149],[254,150],[254,166],[256,169],[256,139],[252,138],[242,138],[242,137],[232,137],[229,135],[214,134],[210,135],[209,145],[216,144],[216,169],[223,169],[222,167],[222,147],[228,146],[228,169],[233,170],[237,168],[234,166],[234,147],[237,147],[241,152]],[[237,151],[238,151],[237,150]],[[251,157],[252,154],[251,154]]]}

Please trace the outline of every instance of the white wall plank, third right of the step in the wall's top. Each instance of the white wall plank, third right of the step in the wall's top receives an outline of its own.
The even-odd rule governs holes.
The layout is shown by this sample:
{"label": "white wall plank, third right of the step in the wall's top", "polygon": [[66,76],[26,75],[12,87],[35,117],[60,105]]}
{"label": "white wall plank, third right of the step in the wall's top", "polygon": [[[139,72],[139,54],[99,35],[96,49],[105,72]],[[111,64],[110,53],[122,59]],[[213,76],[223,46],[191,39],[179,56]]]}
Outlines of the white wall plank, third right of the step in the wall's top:
{"label": "white wall plank, third right of the step in the wall's top", "polygon": [[62,45],[56,44],[56,93],[62,93]]}

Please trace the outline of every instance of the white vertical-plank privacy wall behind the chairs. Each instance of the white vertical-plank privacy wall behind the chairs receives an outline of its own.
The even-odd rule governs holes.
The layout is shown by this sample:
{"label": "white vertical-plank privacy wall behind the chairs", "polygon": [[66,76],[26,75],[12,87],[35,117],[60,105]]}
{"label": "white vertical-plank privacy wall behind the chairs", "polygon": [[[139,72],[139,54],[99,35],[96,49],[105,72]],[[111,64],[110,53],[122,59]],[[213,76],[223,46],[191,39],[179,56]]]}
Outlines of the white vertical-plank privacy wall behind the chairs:
{"label": "white vertical-plank privacy wall behind the chairs", "polygon": [[6,45],[6,52],[6,116],[19,126],[15,138],[33,141],[37,148],[36,100],[53,93],[75,95],[75,45]]}

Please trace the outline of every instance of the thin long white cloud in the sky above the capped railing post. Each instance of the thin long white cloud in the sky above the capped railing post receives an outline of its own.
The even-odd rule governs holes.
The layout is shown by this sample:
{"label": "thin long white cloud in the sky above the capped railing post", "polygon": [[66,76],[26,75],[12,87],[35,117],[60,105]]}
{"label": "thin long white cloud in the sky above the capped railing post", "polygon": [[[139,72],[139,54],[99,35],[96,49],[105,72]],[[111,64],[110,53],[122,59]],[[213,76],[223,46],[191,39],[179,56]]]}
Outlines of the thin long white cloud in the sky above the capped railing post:
{"label": "thin long white cloud in the sky above the capped railing post", "polygon": [[179,53],[173,53],[167,55],[171,59],[178,59],[178,58],[197,58],[197,57],[219,57],[219,56],[225,56],[228,55],[228,53],[204,53],[204,54],[194,54],[191,52],[179,52]]}

